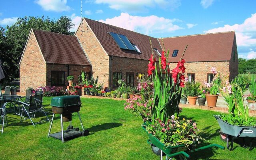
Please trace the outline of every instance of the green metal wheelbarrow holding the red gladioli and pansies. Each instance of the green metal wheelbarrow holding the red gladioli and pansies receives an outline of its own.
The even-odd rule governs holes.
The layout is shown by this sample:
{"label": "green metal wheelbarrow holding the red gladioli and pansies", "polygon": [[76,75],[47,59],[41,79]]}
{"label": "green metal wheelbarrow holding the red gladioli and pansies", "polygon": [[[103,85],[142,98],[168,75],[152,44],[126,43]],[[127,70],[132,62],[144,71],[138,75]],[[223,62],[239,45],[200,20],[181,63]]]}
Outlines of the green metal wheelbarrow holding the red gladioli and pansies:
{"label": "green metal wheelbarrow holding the red gladioli and pansies", "polygon": [[[159,148],[160,152],[159,151],[158,152],[160,154],[160,160],[163,159],[163,152],[164,152],[164,154],[166,154],[166,160],[172,160],[172,158],[175,156],[178,156],[180,158],[180,160],[186,160],[186,159],[190,158],[190,155],[187,152],[196,152],[196,151],[200,151],[200,150],[204,150],[204,149],[212,148],[212,147],[221,148],[223,150],[225,149],[225,147],[220,146],[218,144],[209,144],[207,146],[202,146],[200,148],[196,148],[193,150],[189,150],[189,147],[187,147],[185,145],[167,146],[166,147],[157,138],[155,138],[152,134],[149,134],[144,126],[142,126],[142,128],[148,134],[148,137],[149,137],[148,144],[150,144],[152,151],[154,152],[154,149],[156,151],[156,148]],[[156,154],[156,152],[154,152],[154,153]]]}

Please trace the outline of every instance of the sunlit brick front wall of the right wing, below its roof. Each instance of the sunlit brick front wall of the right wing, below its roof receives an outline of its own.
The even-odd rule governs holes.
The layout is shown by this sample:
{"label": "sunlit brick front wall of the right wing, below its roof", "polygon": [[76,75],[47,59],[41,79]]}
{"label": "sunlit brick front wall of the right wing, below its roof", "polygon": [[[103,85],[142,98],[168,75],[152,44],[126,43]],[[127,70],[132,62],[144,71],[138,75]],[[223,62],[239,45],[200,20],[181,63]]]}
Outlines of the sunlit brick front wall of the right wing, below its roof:
{"label": "sunlit brick front wall of the right wing, below its roof", "polygon": [[[175,68],[177,63],[170,64],[170,69]],[[226,62],[186,62],[184,64],[186,67],[185,76],[188,73],[195,74],[196,82],[207,82],[207,74],[212,73],[210,69],[215,67],[217,70],[220,70],[221,73],[226,76],[229,72],[229,61]]]}

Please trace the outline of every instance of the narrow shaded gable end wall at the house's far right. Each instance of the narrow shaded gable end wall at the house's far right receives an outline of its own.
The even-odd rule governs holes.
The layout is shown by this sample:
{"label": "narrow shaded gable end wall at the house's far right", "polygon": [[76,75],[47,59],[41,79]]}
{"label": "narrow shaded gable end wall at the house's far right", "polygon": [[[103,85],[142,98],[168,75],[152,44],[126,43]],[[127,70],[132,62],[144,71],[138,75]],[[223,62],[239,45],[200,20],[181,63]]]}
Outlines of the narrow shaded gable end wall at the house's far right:
{"label": "narrow shaded gable end wall at the house's far right", "polygon": [[[235,60],[233,60],[234,52],[235,52]],[[236,47],[236,36],[234,37],[229,70],[230,70],[230,80],[232,80],[238,75],[238,52]]]}

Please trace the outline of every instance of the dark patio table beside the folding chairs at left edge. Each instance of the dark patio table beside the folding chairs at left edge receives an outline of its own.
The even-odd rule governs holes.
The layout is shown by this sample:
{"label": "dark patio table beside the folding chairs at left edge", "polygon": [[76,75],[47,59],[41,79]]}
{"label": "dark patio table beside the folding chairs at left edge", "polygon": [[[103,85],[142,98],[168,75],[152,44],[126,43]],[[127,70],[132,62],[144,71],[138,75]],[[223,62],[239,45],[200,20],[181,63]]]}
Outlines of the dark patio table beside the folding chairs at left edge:
{"label": "dark patio table beside the folding chairs at left edge", "polygon": [[[17,96],[17,95],[6,95],[2,94],[1,96],[1,101],[8,102],[10,103],[10,107],[13,106],[14,113],[17,115],[20,115],[20,105],[19,105],[19,100],[22,100],[21,98],[24,98],[25,96]],[[23,101],[23,100],[22,100]],[[18,105],[16,104],[18,103]]]}

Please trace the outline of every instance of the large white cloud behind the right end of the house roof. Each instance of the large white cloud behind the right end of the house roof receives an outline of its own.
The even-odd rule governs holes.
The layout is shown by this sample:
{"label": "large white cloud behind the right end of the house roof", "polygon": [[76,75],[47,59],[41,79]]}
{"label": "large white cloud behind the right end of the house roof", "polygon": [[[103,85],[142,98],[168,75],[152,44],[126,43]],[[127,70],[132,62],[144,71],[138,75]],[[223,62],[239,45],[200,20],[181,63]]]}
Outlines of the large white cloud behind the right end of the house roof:
{"label": "large white cloud behind the right end of the house roof", "polygon": [[255,52],[252,52],[250,48],[256,48],[256,13],[252,14],[251,17],[246,18],[242,24],[225,24],[223,27],[213,28],[204,32],[214,33],[234,30],[236,31],[236,44],[238,46],[238,50],[246,52],[243,54],[244,58],[254,57]]}

